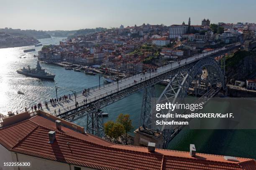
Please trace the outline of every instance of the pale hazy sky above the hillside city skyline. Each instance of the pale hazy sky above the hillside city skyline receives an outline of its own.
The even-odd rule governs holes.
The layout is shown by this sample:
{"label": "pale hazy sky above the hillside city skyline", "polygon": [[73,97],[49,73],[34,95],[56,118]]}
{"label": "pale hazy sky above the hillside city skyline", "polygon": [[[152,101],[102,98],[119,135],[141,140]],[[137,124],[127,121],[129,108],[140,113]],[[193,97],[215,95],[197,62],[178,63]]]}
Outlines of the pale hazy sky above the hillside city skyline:
{"label": "pale hazy sky above the hillside city skyline", "polygon": [[0,0],[0,28],[77,30],[150,24],[256,23],[256,0]]}

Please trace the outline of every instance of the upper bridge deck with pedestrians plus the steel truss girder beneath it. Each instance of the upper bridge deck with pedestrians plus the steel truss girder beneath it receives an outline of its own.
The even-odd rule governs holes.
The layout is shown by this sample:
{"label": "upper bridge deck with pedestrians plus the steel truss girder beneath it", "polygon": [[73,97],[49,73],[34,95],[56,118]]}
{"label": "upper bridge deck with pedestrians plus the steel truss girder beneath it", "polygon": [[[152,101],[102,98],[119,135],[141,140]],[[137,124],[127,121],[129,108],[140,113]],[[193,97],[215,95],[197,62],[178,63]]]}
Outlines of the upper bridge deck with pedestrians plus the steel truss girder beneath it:
{"label": "upper bridge deck with pedestrians plus the steel truss girder beneath it", "polygon": [[[112,104],[128,95],[131,95],[143,87],[154,85],[161,80],[168,79],[179,69],[184,69],[187,66],[194,65],[205,57],[217,57],[235,50],[241,46],[240,43],[228,45],[222,48],[218,48],[212,51],[193,55],[186,59],[172,62],[170,64],[158,67],[154,72],[146,72],[145,74],[137,74],[118,82],[109,83],[106,85],[98,85],[90,88],[90,92],[86,95],[82,95],[82,91],[76,92],[76,97],[72,94],[71,99],[56,102],[56,105],[51,105],[48,102],[48,107],[42,105],[42,110],[50,112],[57,117],[65,120],[73,121],[80,117],[83,117],[90,112],[94,112],[100,108]],[[87,102],[84,102],[87,100]],[[75,106],[75,101],[78,105]]]}

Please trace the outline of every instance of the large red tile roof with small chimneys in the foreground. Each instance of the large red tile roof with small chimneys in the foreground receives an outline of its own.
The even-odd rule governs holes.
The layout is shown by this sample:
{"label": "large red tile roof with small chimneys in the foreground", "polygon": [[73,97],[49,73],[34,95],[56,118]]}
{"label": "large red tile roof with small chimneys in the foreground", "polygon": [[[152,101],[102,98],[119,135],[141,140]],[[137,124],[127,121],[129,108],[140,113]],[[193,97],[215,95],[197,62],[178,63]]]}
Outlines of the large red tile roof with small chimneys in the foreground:
{"label": "large red tile roof with small chimneys in the foreground", "polygon": [[[56,131],[56,140],[49,143],[48,132]],[[38,158],[69,163],[94,169],[130,170],[255,170],[256,161],[237,158],[227,161],[220,155],[116,145],[87,133],[78,133],[36,115],[28,120],[0,129],[0,144],[10,151]]]}

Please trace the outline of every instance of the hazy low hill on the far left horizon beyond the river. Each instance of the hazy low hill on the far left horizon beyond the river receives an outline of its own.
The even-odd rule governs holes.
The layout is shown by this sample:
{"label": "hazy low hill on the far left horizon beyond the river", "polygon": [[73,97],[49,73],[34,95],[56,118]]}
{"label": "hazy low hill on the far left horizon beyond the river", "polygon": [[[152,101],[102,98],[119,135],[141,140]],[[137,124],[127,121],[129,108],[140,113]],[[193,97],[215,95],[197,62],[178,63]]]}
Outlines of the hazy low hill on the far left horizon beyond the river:
{"label": "hazy low hill on the far left horizon beyond the river", "polygon": [[51,37],[51,35],[41,30],[38,31],[38,30],[20,30],[20,29],[11,29],[11,28],[0,28],[0,32],[5,32],[10,35],[15,35],[20,37],[33,37],[35,39]]}

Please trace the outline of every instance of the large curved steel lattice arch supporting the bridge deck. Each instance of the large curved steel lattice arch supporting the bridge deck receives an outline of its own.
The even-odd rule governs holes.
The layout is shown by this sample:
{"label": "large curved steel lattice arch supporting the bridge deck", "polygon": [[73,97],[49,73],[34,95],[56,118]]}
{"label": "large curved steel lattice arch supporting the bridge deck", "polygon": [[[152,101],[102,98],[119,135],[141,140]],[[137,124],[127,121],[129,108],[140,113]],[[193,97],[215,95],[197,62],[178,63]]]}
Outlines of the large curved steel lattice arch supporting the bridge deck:
{"label": "large curved steel lattice arch supporting the bridge deck", "polygon": [[[192,84],[192,81],[195,80],[195,77],[197,77],[198,74],[200,75],[200,72],[202,72],[204,67],[207,69],[207,72],[210,75],[209,77],[211,77],[210,85],[221,83],[223,90],[225,90],[225,80],[220,65],[213,57],[205,57],[192,67],[187,67],[175,74],[157,102],[181,103],[182,100],[184,100],[184,97],[187,96],[187,91]],[[161,112],[161,114],[168,114],[171,110],[161,110]],[[158,129],[158,131],[159,130],[160,129]],[[162,132],[164,139],[163,148],[167,148],[170,140],[172,140],[174,134],[177,133],[179,129],[165,129],[165,126],[163,126],[160,131]]]}

